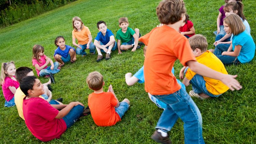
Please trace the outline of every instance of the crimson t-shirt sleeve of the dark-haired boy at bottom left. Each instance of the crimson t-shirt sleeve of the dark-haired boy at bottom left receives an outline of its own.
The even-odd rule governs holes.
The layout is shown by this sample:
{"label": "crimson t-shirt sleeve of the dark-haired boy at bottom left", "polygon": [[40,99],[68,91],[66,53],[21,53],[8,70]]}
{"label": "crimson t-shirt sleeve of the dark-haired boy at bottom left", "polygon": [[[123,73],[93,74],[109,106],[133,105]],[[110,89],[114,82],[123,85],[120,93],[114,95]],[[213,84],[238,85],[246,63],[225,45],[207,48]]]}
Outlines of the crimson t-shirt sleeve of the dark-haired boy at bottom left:
{"label": "crimson t-shirt sleeve of the dark-haired boy at bottom left", "polygon": [[44,119],[47,119],[48,121],[52,121],[57,115],[59,111],[52,107],[49,102],[46,100],[40,99],[40,102],[38,103],[37,108],[37,114],[43,117]]}

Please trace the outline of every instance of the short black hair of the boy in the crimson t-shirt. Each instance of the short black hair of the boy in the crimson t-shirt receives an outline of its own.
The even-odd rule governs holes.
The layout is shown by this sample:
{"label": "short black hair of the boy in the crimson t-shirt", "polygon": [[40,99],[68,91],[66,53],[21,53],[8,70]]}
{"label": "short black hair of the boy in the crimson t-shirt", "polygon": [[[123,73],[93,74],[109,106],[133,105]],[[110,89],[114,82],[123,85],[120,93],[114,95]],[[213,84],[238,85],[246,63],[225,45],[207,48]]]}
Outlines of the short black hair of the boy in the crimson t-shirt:
{"label": "short black hair of the boy in the crimson t-shirt", "polygon": [[28,90],[33,90],[33,86],[35,84],[35,76],[27,76],[20,80],[19,87],[22,92],[28,96]]}

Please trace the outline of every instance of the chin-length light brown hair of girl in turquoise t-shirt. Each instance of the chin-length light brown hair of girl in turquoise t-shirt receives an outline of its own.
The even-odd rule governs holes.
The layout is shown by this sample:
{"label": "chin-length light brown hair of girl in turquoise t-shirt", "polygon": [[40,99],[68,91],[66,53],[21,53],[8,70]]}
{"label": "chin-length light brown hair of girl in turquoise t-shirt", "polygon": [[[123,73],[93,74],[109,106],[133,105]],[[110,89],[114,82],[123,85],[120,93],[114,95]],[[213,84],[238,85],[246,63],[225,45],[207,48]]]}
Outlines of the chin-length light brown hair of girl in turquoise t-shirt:
{"label": "chin-length light brown hair of girl in turquoise t-shirt", "polygon": [[233,35],[238,35],[245,31],[245,26],[241,18],[236,14],[231,14],[224,18],[224,22],[229,26],[230,33]]}

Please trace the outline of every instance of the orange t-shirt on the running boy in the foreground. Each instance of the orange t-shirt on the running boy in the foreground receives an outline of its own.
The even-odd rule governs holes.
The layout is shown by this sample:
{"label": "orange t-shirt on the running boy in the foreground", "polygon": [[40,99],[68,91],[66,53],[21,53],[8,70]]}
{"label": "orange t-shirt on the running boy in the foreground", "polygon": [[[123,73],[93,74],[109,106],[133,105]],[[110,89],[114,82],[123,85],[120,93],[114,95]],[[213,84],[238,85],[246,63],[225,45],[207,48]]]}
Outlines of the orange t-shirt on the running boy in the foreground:
{"label": "orange t-shirt on the running boy in the foreground", "polygon": [[174,62],[196,61],[188,39],[166,25],[139,38],[147,45],[144,61],[145,91],[152,95],[172,94],[181,89],[171,73]]}

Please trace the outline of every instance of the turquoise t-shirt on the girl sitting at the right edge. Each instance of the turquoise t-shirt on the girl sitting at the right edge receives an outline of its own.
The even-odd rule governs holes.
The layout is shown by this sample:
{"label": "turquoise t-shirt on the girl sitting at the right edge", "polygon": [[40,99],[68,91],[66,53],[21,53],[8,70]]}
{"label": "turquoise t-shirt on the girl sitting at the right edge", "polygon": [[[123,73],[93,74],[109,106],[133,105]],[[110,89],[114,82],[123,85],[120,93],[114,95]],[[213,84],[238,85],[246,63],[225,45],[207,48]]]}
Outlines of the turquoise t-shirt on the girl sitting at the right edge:
{"label": "turquoise t-shirt on the girl sitting at the right edge", "polygon": [[250,62],[255,54],[255,43],[252,36],[247,31],[243,31],[238,35],[234,35],[232,39],[233,51],[237,45],[242,46],[241,51],[237,57],[238,60],[241,63]]}

